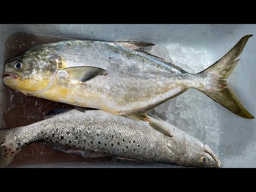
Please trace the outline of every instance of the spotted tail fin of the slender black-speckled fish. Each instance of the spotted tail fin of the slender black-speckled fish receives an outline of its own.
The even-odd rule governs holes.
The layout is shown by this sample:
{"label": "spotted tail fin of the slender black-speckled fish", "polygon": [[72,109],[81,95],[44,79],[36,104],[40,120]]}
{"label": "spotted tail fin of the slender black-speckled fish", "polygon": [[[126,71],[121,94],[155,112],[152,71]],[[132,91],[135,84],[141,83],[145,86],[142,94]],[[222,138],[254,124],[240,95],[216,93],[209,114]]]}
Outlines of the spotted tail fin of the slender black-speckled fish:
{"label": "spotted tail fin of the slender black-speckled fish", "polygon": [[0,129],[0,168],[7,167],[23,148],[12,143],[13,136],[11,129]]}

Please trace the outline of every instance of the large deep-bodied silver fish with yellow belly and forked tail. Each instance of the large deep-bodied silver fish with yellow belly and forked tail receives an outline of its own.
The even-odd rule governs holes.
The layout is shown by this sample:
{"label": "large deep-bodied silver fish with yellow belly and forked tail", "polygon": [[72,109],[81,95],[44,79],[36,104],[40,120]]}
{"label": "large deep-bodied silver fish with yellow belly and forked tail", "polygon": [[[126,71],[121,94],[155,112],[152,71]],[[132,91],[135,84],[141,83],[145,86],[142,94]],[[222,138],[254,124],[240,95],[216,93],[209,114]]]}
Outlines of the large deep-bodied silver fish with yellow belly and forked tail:
{"label": "large deep-bodied silver fish with yellow belly and forked tail", "polygon": [[70,40],[31,48],[4,68],[5,85],[24,94],[137,117],[190,88],[233,113],[254,118],[228,89],[226,78],[247,40],[198,74],[141,51],[142,42]]}

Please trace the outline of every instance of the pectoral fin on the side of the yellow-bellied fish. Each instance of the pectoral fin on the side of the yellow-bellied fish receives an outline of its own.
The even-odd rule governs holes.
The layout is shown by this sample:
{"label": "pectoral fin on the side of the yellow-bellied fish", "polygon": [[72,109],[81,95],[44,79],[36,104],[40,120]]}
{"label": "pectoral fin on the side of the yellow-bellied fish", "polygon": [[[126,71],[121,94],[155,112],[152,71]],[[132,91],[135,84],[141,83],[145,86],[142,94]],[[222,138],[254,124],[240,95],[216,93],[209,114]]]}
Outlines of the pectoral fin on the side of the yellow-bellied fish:
{"label": "pectoral fin on the side of the yellow-bellied fish", "polygon": [[82,67],[68,67],[62,69],[66,71],[69,79],[85,82],[97,75],[107,75],[107,71],[98,67],[82,66]]}

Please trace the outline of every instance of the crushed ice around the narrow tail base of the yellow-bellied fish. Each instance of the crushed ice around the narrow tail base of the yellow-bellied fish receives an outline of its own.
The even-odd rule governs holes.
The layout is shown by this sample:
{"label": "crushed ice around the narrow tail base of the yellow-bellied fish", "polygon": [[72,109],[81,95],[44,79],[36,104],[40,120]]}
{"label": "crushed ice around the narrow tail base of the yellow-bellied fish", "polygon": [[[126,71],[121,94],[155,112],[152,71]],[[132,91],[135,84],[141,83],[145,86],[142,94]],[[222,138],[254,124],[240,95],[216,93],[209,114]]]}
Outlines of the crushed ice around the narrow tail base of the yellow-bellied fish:
{"label": "crushed ice around the narrow tail base of the yellow-bellied fish", "polygon": [[[213,63],[207,50],[197,50],[179,43],[157,44],[149,53],[195,74]],[[203,93],[190,89],[156,107],[151,113],[208,144],[218,155],[221,134],[219,107]]]}

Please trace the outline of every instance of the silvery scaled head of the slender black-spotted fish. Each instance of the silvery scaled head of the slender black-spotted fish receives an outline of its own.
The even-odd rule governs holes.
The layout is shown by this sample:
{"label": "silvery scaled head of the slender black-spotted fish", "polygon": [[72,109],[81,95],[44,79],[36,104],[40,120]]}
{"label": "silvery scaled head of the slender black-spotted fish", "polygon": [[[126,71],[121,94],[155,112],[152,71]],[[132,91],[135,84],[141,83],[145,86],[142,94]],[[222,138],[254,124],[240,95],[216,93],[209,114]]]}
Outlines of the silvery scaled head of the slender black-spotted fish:
{"label": "silvery scaled head of the slender black-spotted fish", "polygon": [[169,139],[168,147],[176,155],[182,166],[220,167],[220,159],[208,145],[187,133]]}

